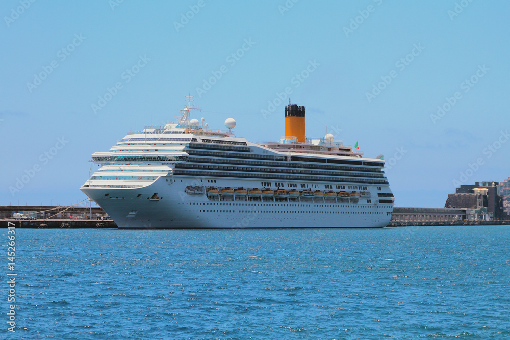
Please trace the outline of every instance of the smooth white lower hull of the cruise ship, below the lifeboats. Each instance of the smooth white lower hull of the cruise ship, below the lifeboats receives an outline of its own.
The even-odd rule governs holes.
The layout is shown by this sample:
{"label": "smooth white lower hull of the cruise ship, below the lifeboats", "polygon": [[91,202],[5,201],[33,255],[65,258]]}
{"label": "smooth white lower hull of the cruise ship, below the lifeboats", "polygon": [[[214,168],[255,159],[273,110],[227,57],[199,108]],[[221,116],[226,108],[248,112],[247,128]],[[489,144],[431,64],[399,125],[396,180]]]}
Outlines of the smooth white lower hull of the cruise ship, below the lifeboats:
{"label": "smooth white lower hull of the cruise ship, below the lifeboats", "polygon": [[[175,180],[175,182],[174,182]],[[182,182],[181,182],[182,180]],[[256,187],[260,182],[218,179],[217,186]],[[196,178],[160,177],[143,188],[82,188],[119,228],[382,228],[392,204],[345,200],[209,198],[188,194]],[[206,185],[207,186],[207,185]],[[158,199],[152,198],[157,193]],[[105,196],[108,194],[108,196]],[[152,199],[151,199],[152,198]],[[250,198],[251,199],[251,198]]]}

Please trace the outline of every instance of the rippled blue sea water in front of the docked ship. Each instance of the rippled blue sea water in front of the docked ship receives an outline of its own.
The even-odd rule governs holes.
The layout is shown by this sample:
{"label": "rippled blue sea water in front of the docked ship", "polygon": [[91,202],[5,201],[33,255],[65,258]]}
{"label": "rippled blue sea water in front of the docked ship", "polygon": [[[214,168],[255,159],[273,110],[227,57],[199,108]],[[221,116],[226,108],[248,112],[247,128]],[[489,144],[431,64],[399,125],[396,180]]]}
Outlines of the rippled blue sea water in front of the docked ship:
{"label": "rippled blue sea water in front of the docked ship", "polygon": [[[0,244],[5,249],[7,229]],[[24,339],[507,339],[510,227],[16,229]]]}

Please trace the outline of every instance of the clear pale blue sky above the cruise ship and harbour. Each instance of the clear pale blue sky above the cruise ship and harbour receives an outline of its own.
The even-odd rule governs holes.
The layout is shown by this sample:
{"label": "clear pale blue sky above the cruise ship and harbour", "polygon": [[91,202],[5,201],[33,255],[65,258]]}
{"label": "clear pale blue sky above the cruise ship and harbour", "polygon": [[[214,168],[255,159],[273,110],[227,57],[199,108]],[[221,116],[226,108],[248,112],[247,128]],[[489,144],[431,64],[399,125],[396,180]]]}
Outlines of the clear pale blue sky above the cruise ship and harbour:
{"label": "clear pale blue sky above the cruise ship and harbour", "polygon": [[188,93],[192,118],[253,142],[284,135],[288,97],[305,105],[307,137],[384,155],[396,206],[510,176],[507,1],[5,0],[0,16],[2,205],[86,198],[90,155]]}

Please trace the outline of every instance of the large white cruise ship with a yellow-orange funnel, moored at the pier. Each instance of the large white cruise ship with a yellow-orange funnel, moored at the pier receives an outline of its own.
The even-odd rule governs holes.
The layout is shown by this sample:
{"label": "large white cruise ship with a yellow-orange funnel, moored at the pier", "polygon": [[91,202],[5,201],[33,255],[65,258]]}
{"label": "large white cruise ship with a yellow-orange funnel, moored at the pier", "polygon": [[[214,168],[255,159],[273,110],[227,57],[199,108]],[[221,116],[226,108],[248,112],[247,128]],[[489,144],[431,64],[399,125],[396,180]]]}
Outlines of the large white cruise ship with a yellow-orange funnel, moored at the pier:
{"label": "large white cruise ship with a yellow-orange funnel, moored at the pier", "polygon": [[252,143],[213,130],[188,98],[177,122],[130,132],[80,188],[119,228],[382,228],[394,197],[382,156],[326,134],[305,138],[305,107],[285,106],[285,136]]}

